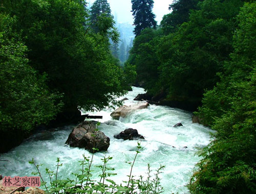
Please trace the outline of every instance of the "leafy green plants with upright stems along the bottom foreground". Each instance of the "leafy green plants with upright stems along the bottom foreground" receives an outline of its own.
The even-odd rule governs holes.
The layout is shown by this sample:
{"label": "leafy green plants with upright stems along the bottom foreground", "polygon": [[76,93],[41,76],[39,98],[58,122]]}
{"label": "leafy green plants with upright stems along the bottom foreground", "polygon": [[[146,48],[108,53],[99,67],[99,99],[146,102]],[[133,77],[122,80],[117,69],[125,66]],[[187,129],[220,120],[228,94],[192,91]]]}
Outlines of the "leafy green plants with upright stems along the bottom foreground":
{"label": "leafy green plants with upright stems along the bottom foreground", "polygon": [[141,194],[158,194],[163,192],[163,187],[160,184],[159,175],[162,173],[164,166],[160,165],[157,169],[155,176],[152,177],[152,170],[150,169],[150,164],[148,164],[148,172],[147,178],[144,180],[142,176],[139,179],[135,179],[132,175],[133,166],[135,164],[135,160],[137,155],[140,153],[141,146],[138,142],[137,151],[133,162],[126,162],[131,164],[131,171],[128,181],[123,181],[125,185],[118,185],[115,181],[111,180],[110,177],[116,175],[113,173],[115,170],[108,166],[108,162],[113,158],[110,156],[104,156],[102,160],[102,165],[98,165],[96,167],[100,168],[101,174],[99,175],[99,181],[92,180],[92,164],[93,164],[93,156],[91,158],[86,157],[83,154],[83,160],[79,161],[81,169],[80,173],[72,173],[75,179],[58,179],[58,170],[59,167],[62,166],[59,158],[57,158],[56,164],[56,172],[50,171],[49,168],[46,168],[46,173],[49,176],[49,182],[46,182],[40,173],[40,166],[42,164],[36,164],[34,159],[32,159],[29,163],[33,164],[37,172],[32,173],[33,175],[38,175],[41,178],[41,186],[45,187],[45,191],[47,193],[100,193],[100,194],[110,194],[110,193],[141,193]]}

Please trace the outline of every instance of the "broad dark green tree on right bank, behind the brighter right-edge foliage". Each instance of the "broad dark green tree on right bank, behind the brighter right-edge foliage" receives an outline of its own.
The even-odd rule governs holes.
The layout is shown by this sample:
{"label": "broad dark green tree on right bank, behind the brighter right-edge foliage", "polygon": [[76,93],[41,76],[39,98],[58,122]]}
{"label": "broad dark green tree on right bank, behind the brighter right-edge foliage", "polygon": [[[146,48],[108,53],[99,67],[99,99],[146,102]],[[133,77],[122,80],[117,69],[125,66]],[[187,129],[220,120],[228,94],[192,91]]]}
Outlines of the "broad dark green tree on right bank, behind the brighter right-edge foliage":
{"label": "broad dark green tree on right bank, behind the brighter right-edge foliage", "polygon": [[204,91],[216,85],[217,73],[233,51],[234,17],[243,4],[242,0],[205,0],[176,33],[161,38],[160,82],[170,100],[194,99],[198,106]]}

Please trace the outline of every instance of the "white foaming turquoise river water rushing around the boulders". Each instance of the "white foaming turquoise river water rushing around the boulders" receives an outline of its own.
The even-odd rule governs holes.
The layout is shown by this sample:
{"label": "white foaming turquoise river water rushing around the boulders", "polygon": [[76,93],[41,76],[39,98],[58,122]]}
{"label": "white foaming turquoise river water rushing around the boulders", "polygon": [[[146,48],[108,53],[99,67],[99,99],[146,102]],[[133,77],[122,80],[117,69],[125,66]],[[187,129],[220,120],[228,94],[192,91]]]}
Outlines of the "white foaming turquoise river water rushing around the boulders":
{"label": "white foaming turquoise river water rushing around the boulders", "polygon": [[[139,93],[144,93],[143,88],[133,87],[133,91],[122,97],[129,99],[124,104],[136,103],[133,99]],[[137,129],[145,140],[141,141],[142,150],[135,162],[133,175],[146,177],[147,163],[151,164],[152,169],[157,169],[160,164],[165,165],[161,174],[164,193],[171,193],[171,191],[186,193],[185,185],[189,181],[195,164],[200,160],[195,153],[198,148],[203,148],[209,143],[212,131],[202,125],[193,124],[191,113],[180,109],[150,105],[147,109],[138,110],[120,120],[111,118],[112,111],[90,113],[103,116],[103,119],[99,120],[102,123],[99,130],[111,139],[106,153],[95,154],[94,165],[101,164],[100,159],[105,154],[113,156],[109,166],[115,168],[114,172],[117,175],[111,179],[119,183],[127,181],[126,175],[130,174],[130,165],[125,161],[133,161],[137,141],[123,141],[115,139],[113,135],[127,128]],[[182,123],[183,127],[174,128],[173,126],[177,123]],[[78,172],[80,169],[78,161],[82,159],[82,154],[91,155],[83,149],[63,146],[73,127],[39,131],[17,148],[1,155],[2,159],[9,162],[0,164],[0,174],[11,177],[31,176],[35,168],[29,164],[29,160],[34,158],[36,163],[44,164],[41,168],[44,172],[45,167],[55,169],[55,161],[59,157],[63,163],[58,173],[59,178],[72,178],[72,172]],[[99,169],[94,167],[93,170],[96,178],[99,175]]]}

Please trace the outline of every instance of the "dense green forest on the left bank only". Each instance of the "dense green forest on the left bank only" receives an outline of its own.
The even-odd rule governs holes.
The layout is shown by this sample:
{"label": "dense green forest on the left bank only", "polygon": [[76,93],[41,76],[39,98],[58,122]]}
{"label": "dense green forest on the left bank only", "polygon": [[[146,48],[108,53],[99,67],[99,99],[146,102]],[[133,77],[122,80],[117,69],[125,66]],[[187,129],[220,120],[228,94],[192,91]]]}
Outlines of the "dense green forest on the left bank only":
{"label": "dense green forest on the left bank only", "polygon": [[119,33],[106,0],[92,9],[80,0],[1,0],[0,12],[1,152],[36,126],[77,119],[78,108],[115,105],[129,89],[110,52]]}

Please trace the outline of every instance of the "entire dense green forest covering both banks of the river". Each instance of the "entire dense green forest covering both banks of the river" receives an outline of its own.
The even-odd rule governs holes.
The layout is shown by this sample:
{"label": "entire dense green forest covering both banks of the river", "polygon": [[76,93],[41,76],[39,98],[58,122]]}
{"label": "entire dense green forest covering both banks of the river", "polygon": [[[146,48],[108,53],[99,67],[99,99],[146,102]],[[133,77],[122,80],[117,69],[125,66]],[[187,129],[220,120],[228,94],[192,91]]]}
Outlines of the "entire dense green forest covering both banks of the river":
{"label": "entire dense green forest covering both banks of the river", "polygon": [[190,193],[256,193],[255,1],[170,1],[160,25],[153,0],[131,2],[135,39],[120,66],[106,0],[0,0],[0,153],[37,127],[77,123],[79,110],[120,105],[136,85],[216,131]]}

